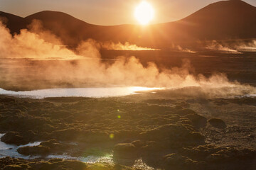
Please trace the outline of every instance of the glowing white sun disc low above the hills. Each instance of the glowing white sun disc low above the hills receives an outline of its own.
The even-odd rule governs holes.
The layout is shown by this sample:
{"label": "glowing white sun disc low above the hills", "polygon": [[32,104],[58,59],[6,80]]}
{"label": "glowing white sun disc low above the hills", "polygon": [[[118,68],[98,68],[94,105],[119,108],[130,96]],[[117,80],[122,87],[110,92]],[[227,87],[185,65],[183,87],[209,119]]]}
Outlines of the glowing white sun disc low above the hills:
{"label": "glowing white sun disc low above the hills", "polygon": [[147,1],[142,1],[135,8],[134,16],[140,24],[146,25],[154,18],[154,8]]}

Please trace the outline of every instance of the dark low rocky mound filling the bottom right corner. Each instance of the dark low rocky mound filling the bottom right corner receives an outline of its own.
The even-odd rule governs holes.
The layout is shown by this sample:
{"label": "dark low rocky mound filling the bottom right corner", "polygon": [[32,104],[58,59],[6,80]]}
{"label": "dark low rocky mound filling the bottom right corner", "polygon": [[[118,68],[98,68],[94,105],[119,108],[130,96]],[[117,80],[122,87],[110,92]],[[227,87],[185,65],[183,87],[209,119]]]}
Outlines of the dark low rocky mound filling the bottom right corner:
{"label": "dark low rocky mound filling the bottom right corner", "polygon": [[205,169],[253,169],[256,166],[256,151],[252,149],[202,145],[183,148],[181,154],[199,162],[206,162]]}

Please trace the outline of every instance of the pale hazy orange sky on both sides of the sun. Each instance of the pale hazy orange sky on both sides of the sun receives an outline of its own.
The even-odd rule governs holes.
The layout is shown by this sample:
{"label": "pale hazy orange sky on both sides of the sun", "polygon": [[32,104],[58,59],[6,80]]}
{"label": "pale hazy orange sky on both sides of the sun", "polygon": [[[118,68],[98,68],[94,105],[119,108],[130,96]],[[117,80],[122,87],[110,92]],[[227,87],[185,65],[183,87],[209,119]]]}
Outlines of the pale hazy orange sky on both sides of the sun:
{"label": "pale hazy orange sky on both sides of the sun", "polygon": [[[0,11],[28,16],[38,11],[62,11],[87,23],[137,23],[134,8],[142,0],[0,0]],[[154,23],[175,21],[218,0],[147,0],[155,8]],[[245,0],[256,6],[256,0]]]}

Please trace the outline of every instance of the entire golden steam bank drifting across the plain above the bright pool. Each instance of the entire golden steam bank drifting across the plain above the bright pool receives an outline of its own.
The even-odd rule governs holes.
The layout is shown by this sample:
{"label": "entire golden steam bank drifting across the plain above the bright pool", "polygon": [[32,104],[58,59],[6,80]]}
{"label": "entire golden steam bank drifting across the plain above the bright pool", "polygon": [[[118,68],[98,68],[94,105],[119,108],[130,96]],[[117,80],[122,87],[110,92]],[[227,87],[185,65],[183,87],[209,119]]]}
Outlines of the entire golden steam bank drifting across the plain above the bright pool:
{"label": "entire golden steam bank drifting across the plain above the bright pool", "polygon": [[[214,74],[209,78],[201,74],[193,76],[188,61],[184,61],[179,68],[161,70],[153,62],[149,62],[144,67],[136,57],[121,56],[112,64],[103,63],[100,43],[87,40],[81,42],[74,51],[69,50],[54,35],[41,31],[37,23],[31,26],[31,31],[21,30],[19,35],[14,36],[1,25],[0,37],[0,57],[39,60],[9,62],[4,74],[0,76],[1,84],[6,86],[25,87],[25,89],[35,87],[43,89],[47,87],[46,84],[50,84],[51,87],[124,85],[165,88],[198,86],[203,89],[228,86],[236,87],[236,90],[230,89],[232,94],[256,94],[255,88],[230,82],[223,74]],[[53,59],[58,60],[44,61]],[[224,91],[218,93],[227,94]]]}

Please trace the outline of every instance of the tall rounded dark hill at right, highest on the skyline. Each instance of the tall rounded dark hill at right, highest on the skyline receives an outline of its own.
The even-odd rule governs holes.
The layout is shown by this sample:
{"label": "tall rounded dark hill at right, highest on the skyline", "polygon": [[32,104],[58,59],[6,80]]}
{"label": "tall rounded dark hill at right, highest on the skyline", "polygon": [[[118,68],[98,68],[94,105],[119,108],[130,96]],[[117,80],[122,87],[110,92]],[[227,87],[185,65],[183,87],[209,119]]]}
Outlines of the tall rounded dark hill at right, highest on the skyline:
{"label": "tall rounded dark hill at right, highest on the skyline", "polygon": [[193,35],[203,39],[255,38],[256,7],[240,0],[219,1],[183,18]]}

